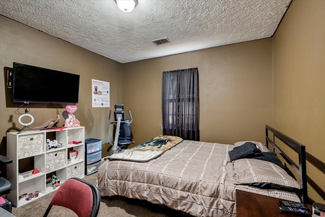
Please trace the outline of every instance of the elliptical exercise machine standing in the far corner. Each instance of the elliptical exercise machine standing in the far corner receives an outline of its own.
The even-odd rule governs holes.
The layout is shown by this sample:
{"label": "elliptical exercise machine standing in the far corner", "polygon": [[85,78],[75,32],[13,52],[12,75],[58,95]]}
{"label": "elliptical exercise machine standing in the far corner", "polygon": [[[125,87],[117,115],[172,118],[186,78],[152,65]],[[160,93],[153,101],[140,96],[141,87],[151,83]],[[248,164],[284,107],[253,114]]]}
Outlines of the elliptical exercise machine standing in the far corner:
{"label": "elliptical exercise machine standing in the far corner", "polygon": [[111,124],[116,123],[114,143],[113,141],[108,143],[113,143],[113,146],[110,146],[107,149],[107,151],[110,152],[110,155],[119,152],[120,150],[122,150],[122,148],[127,148],[129,144],[135,143],[134,141],[131,141],[131,123],[133,121],[131,111],[128,111],[128,114],[130,116],[130,120],[125,119],[124,105],[115,105],[114,121],[111,121],[110,110],[108,122]]}

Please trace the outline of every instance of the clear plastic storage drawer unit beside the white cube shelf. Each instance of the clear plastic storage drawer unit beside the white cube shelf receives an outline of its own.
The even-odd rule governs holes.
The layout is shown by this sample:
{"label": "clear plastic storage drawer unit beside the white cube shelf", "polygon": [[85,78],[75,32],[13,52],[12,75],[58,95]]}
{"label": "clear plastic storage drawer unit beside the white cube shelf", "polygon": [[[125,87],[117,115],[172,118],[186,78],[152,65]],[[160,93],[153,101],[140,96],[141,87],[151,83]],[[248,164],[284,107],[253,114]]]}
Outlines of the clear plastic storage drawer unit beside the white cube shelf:
{"label": "clear plastic storage drawer unit beside the white cube shelf", "polygon": [[98,171],[102,160],[102,140],[85,139],[85,173],[90,175]]}

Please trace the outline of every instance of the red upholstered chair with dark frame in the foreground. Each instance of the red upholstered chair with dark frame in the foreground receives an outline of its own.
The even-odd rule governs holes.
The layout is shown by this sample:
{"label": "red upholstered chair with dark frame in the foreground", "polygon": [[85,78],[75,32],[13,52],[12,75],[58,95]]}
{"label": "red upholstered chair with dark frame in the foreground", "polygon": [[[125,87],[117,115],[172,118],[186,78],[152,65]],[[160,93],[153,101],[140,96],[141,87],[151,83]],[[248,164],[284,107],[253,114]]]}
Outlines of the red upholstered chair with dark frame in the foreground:
{"label": "red upholstered chair with dark frame in the foreground", "polygon": [[67,207],[79,217],[95,217],[100,202],[100,192],[94,184],[80,178],[70,178],[55,192],[43,217],[48,215],[53,205]]}

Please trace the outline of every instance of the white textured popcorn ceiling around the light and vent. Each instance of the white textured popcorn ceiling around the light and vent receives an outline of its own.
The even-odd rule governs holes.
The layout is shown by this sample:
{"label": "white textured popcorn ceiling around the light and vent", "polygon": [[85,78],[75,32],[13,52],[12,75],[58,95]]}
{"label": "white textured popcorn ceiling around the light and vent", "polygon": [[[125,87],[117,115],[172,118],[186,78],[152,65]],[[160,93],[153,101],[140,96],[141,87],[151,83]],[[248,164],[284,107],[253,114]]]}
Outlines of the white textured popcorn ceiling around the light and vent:
{"label": "white textured popcorn ceiling around the light and vent", "polygon": [[[0,14],[119,63],[273,36],[291,0],[1,0]],[[155,45],[167,37],[170,43]]]}

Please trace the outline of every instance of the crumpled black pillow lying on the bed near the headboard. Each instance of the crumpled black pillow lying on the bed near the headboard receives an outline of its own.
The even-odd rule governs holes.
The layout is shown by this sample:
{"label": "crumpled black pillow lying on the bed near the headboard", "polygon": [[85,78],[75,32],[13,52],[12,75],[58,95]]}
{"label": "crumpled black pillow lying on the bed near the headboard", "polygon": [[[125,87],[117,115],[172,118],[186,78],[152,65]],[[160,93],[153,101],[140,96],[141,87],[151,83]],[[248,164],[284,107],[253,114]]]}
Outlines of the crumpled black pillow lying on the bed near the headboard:
{"label": "crumpled black pillow lying on the bed near the headboard", "polygon": [[229,151],[230,161],[235,161],[241,158],[252,158],[253,156],[258,156],[262,154],[254,143],[245,142],[241,146],[234,147],[233,150]]}

